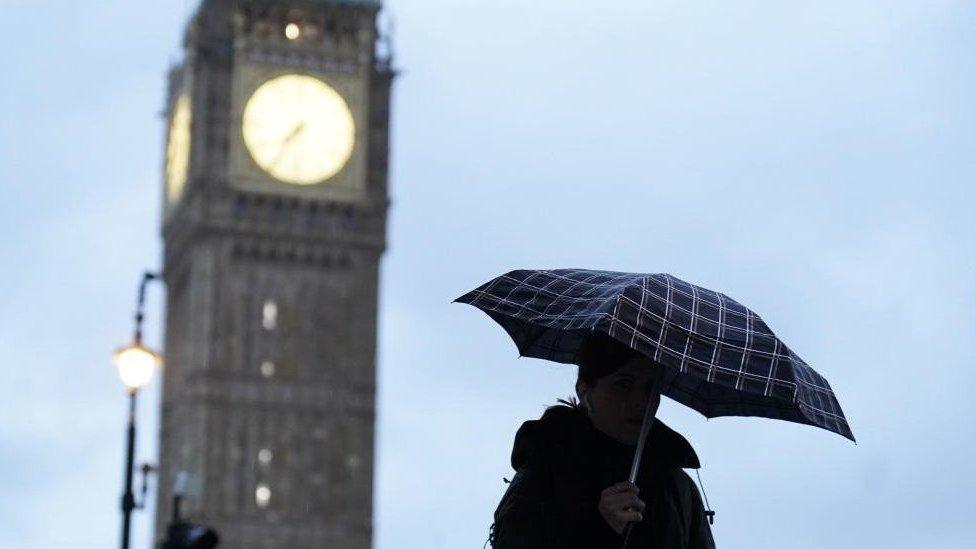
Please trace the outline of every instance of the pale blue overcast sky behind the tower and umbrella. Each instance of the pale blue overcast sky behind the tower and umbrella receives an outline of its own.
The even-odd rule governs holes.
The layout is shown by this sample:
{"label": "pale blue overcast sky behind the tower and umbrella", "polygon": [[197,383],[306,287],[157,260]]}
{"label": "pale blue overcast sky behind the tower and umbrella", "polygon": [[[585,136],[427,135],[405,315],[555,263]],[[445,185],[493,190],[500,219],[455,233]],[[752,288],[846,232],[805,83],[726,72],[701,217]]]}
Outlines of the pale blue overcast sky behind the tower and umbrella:
{"label": "pale blue overcast sky behind the tower and umbrella", "polygon": [[[0,549],[115,543],[111,351],[159,264],[164,73],[194,2],[6,0]],[[976,545],[976,6],[387,2],[379,549],[481,547],[570,366],[457,295],[513,268],[670,272],[763,315],[858,444],[666,401],[723,547]],[[160,340],[162,291],[150,294]],[[158,383],[141,404],[155,451]],[[149,515],[137,547],[149,547]]]}

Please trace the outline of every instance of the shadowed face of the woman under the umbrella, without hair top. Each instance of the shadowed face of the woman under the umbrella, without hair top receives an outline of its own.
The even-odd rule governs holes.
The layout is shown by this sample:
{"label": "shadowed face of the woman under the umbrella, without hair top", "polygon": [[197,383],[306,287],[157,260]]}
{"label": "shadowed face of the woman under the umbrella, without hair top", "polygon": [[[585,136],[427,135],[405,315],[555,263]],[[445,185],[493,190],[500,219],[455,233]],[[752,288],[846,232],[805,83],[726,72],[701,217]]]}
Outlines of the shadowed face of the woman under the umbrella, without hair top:
{"label": "shadowed face of the woman under the umbrella, without hair top", "polygon": [[618,442],[637,444],[645,410],[650,406],[653,415],[661,403],[661,374],[661,367],[650,359],[635,357],[593,387],[578,381],[576,395],[594,427]]}

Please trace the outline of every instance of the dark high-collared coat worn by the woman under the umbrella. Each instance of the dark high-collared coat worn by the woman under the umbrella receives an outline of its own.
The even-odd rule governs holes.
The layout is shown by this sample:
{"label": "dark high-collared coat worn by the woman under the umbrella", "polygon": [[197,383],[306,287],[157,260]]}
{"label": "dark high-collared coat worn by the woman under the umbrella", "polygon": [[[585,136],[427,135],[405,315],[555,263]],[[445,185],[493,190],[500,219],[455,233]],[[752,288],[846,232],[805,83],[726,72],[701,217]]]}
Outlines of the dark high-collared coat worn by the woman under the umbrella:
{"label": "dark high-collared coat worn by the woman under the umbrella", "polygon": [[[627,480],[634,446],[603,434],[577,406],[553,406],[515,435],[515,476],[495,510],[494,549],[619,549],[618,535],[600,515],[600,492]],[[713,549],[698,490],[682,468],[699,467],[681,435],[658,420],[638,474],[647,504],[634,523],[633,549]]]}

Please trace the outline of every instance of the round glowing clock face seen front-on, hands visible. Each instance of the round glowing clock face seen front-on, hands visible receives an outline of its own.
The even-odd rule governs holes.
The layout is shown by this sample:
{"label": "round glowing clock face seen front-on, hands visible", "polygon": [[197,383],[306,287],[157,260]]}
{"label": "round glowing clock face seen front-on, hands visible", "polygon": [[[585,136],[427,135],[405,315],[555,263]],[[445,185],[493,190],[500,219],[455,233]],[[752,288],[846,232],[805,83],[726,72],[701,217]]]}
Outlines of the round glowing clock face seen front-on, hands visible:
{"label": "round glowing clock face seen front-on, hands visible", "polygon": [[275,179],[314,185],[352,156],[356,124],[346,101],[312,76],[268,80],[244,107],[242,132],[251,157]]}

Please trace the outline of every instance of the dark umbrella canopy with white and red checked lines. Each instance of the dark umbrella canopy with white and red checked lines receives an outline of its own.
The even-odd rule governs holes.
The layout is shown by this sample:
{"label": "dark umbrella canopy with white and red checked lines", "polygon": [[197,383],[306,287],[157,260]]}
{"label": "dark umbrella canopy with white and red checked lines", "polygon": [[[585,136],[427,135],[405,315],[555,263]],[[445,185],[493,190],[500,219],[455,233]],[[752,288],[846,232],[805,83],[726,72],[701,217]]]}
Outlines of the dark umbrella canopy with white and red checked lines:
{"label": "dark umbrella canopy with white and red checked lines", "polygon": [[706,417],[782,419],[854,440],[827,380],[759,315],[669,274],[517,270],[455,301],[498,322],[522,356],[576,363],[598,330],[664,365],[662,394]]}

